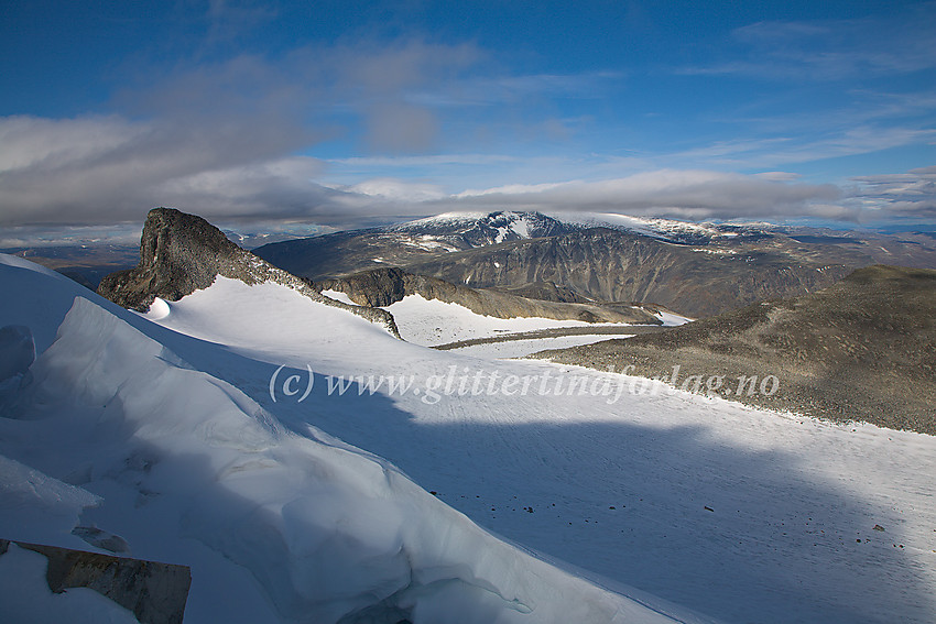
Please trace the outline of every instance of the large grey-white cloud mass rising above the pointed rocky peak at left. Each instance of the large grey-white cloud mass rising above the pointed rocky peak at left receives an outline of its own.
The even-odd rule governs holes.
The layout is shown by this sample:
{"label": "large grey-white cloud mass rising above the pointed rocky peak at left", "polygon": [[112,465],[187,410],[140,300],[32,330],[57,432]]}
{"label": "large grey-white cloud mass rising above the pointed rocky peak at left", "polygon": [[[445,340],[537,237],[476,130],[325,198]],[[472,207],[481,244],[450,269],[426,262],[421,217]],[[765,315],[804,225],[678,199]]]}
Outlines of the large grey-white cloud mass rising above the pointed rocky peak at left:
{"label": "large grey-white cloud mass rising above the pointed rocky peak at left", "polygon": [[325,135],[315,128],[335,132],[342,106],[367,120],[367,144],[425,149],[438,124],[407,90],[478,55],[421,42],[240,55],[141,75],[116,96],[123,114],[0,118],[0,225],[139,221],[163,205],[271,219],[360,209],[368,196],[316,184],[318,162],[294,154]]}

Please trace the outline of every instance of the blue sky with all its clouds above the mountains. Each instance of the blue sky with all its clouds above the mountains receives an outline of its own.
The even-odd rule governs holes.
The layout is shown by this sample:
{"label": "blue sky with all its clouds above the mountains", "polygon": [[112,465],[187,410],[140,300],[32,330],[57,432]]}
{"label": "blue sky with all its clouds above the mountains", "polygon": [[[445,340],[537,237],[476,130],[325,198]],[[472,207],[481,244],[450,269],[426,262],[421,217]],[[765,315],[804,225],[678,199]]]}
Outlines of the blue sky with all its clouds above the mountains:
{"label": "blue sky with all its clouds above the mountains", "polygon": [[155,206],[270,228],[535,209],[936,229],[936,2],[0,15],[8,233]]}

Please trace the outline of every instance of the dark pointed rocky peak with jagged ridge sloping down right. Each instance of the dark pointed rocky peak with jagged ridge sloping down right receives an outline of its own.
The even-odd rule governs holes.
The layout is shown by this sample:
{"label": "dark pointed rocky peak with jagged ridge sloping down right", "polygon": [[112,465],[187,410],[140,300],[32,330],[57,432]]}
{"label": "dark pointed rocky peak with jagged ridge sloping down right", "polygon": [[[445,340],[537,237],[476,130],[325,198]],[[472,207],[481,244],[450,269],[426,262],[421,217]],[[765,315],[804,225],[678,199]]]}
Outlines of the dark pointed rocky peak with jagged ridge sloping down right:
{"label": "dark pointed rocky peak with jagged ridge sloping down right", "polygon": [[239,248],[202,217],[174,208],[150,210],[140,240],[139,264],[107,275],[98,286],[98,294],[126,308],[145,311],[155,297],[176,302],[195,291],[207,288],[218,275],[250,285],[263,282],[282,284],[313,300],[383,325],[399,337],[390,313],[349,306],[325,297],[304,280]]}

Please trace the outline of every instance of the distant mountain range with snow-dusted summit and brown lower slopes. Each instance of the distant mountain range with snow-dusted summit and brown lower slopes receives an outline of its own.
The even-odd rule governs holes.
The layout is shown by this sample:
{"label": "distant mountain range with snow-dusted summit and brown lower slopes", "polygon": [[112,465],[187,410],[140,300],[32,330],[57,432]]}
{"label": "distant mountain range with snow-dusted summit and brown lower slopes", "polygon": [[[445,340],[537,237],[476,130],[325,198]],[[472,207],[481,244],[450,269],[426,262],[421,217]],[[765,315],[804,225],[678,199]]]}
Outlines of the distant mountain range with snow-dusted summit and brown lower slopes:
{"label": "distant mountain range with snow-dusted summit and brown lower slopes", "polygon": [[619,216],[559,220],[537,212],[443,215],[253,252],[314,281],[396,266],[474,288],[578,303],[655,304],[688,317],[812,293],[881,262],[936,267],[936,244],[924,234]]}

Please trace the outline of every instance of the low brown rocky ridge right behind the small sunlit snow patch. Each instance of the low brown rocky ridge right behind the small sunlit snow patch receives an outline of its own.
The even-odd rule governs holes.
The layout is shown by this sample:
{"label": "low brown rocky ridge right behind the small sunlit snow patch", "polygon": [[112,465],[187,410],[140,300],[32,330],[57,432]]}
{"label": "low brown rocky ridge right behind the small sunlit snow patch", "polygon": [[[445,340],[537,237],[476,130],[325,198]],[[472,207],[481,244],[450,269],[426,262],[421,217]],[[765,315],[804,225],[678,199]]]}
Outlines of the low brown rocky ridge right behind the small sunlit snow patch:
{"label": "low brown rocky ridge right behind the small sunlit snow patch", "polygon": [[497,291],[469,288],[436,277],[414,275],[401,269],[363,271],[317,284],[323,289],[340,291],[362,306],[389,306],[406,295],[459,304],[471,311],[496,318],[541,317],[587,322],[660,324],[660,318],[631,305],[596,305],[530,299]]}

